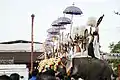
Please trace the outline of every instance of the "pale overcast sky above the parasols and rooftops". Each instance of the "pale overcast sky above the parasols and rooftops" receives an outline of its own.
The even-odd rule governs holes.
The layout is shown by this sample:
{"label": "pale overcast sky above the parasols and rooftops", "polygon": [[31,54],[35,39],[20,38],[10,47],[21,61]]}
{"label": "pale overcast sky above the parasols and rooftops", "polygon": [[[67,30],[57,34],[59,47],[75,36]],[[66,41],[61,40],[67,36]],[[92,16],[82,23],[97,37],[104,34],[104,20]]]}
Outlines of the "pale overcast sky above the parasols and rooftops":
{"label": "pale overcast sky above the parasols and rooftops", "polygon": [[[0,41],[31,40],[31,14],[35,14],[34,41],[43,42],[46,30],[72,3],[83,11],[74,16],[73,26],[86,24],[88,17],[105,17],[100,24],[100,44],[108,52],[111,42],[120,40],[120,0],[0,0]],[[66,15],[70,17],[70,15]],[[67,26],[68,28],[68,26]]]}

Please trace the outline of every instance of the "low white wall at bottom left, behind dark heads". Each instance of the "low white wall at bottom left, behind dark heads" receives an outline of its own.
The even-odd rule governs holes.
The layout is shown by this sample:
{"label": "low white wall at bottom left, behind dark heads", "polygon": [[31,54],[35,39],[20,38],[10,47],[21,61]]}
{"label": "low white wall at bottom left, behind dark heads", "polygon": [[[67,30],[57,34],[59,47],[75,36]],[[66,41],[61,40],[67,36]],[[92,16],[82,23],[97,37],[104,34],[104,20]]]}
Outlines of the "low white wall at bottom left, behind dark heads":
{"label": "low white wall at bottom left, behind dark heads", "polygon": [[0,65],[0,75],[10,76],[12,73],[18,73],[24,77],[20,80],[28,80],[29,78],[29,70],[26,68],[26,65]]}

